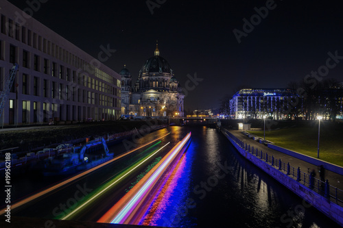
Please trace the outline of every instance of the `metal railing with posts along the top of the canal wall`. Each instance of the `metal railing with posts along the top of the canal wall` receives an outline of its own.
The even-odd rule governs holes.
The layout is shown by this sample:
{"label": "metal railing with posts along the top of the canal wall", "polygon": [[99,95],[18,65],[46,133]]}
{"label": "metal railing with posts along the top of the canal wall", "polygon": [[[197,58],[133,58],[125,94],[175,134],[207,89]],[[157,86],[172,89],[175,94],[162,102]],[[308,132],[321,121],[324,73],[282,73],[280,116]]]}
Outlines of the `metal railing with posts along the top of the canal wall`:
{"label": "metal railing with posts along the top of the canal wall", "polygon": [[304,186],[307,186],[311,190],[321,194],[322,196],[326,197],[333,203],[338,205],[343,205],[343,190],[331,186],[329,184],[329,180],[321,181],[316,177],[309,175],[308,173],[304,173],[300,170],[300,167],[295,168],[291,166],[289,162],[287,164],[283,162],[281,159],[276,159],[274,155],[270,156],[268,153],[263,153],[263,151],[259,151],[259,149],[255,149],[254,147],[250,147],[250,144],[239,140],[236,136],[233,136],[228,130],[224,129],[226,134],[236,142],[239,147],[248,151],[252,155],[255,155],[259,160],[270,164],[272,167],[278,169],[280,172],[285,173],[287,176],[296,179],[299,183],[302,183]]}

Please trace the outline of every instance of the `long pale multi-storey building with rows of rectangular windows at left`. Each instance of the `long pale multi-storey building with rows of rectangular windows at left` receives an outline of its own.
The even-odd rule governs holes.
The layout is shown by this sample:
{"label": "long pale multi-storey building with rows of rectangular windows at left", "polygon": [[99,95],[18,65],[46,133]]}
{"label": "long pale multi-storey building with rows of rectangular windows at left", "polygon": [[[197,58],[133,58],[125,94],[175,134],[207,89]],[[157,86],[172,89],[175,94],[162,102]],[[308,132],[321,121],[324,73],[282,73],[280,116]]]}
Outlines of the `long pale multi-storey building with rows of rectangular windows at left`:
{"label": "long pale multi-storey building with rows of rectangular windows at left", "polygon": [[0,5],[0,92],[14,63],[19,64],[19,71],[0,125],[119,118],[121,76],[3,0]]}

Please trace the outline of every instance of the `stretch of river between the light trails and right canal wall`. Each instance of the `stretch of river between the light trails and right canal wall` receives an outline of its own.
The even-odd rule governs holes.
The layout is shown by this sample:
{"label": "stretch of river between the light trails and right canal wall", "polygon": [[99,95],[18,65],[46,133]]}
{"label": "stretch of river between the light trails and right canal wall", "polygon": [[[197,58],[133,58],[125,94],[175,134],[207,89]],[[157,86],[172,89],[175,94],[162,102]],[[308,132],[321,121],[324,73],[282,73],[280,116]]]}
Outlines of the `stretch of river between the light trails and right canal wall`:
{"label": "stretch of river between the light trails and right canal wall", "polygon": [[[288,216],[302,199],[241,157],[219,132],[206,127],[184,127],[184,131],[192,131],[185,169],[156,225],[338,227],[311,207],[293,218]],[[219,164],[225,162],[232,170],[220,179],[224,172]],[[185,210],[187,199],[195,205]]]}

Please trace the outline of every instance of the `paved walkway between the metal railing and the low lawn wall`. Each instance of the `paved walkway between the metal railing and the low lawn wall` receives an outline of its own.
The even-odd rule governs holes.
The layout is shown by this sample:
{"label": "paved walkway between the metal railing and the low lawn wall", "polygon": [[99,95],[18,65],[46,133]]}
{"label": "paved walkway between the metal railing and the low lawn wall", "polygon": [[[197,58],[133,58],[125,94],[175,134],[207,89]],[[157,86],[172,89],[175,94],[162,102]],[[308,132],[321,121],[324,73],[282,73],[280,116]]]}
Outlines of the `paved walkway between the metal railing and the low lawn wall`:
{"label": "paved walkway between the metal railing and the low lawn wall", "polygon": [[[244,143],[250,144],[250,148],[254,147],[254,149],[256,150],[256,148],[259,151],[263,151],[263,153],[268,153],[268,155],[272,156],[274,155],[275,159],[280,159],[282,160],[282,162],[285,162],[287,164],[287,162],[289,162],[289,164],[291,166],[293,166],[294,168],[298,168],[300,167],[300,170],[304,173],[307,173],[307,170],[309,168],[309,170],[311,171],[312,169],[316,170],[316,178],[320,179],[319,177],[319,172],[318,172],[318,166],[305,162],[303,160],[299,160],[296,157],[292,157],[291,155],[287,155],[285,153],[281,153],[279,151],[275,151],[274,149],[270,149],[267,146],[265,146],[264,144],[261,144],[255,140],[253,140],[252,138],[249,138],[248,136],[245,136],[244,134],[241,134],[241,131],[238,130],[233,130],[233,129],[228,129],[228,131],[233,134],[235,137],[237,137],[239,140],[244,141]],[[325,167],[325,166],[324,166]],[[340,188],[340,190],[343,190],[343,176],[339,175],[338,173],[333,173],[330,170],[325,170],[325,179],[329,180],[329,184],[331,186]]]}

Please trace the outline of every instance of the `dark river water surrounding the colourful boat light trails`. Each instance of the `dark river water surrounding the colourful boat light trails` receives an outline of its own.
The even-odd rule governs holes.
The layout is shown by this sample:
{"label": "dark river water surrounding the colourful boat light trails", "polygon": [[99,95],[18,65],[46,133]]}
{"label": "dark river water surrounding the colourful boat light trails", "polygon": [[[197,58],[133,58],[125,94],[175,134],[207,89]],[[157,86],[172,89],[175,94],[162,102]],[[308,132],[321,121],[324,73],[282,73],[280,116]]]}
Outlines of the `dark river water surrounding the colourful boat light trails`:
{"label": "dark river water surrounding the colourful boat light trails", "polygon": [[[281,183],[265,174],[263,170],[245,160],[216,129],[205,126],[167,127],[167,129],[154,131],[139,138],[137,144],[161,137],[168,131],[171,131],[171,134],[163,138],[161,144],[167,142],[175,144],[189,131],[191,131],[191,143],[182,155],[177,166],[178,170],[173,173],[174,178],[169,181],[163,201],[159,203],[149,225],[161,227],[339,227]],[[110,151],[115,153],[122,153],[125,150],[123,143],[110,147]],[[118,164],[123,161],[130,163],[130,160],[126,159]],[[95,189],[99,183],[102,183],[102,179],[111,177],[111,172],[117,172],[115,168],[120,169],[117,164],[104,167],[73,185],[86,184],[88,188]],[[22,176],[16,179],[14,198],[19,199],[29,192],[34,192],[59,180]],[[51,214],[60,202],[73,197],[67,194],[67,192],[71,194],[75,192],[76,188],[73,188],[73,185],[51,195],[51,198],[46,197],[46,202],[37,202],[27,206],[26,211],[32,211],[32,208],[36,211],[29,213],[23,210],[23,212],[18,212],[18,215],[53,218],[46,214]],[[111,206],[115,203],[115,197],[106,198],[106,201],[112,201],[112,199]],[[84,214],[78,220],[97,221],[106,212],[107,206],[104,206],[104,201],[102,202],[95,205],[97,210],[88,210],[88,213],[93,216]],[[47,205],[52,206],[47,208]],[[102,206],[104,208],[100,210]],[[43,211],[49,213],[45,214]],[[95,211],[98,211],[98,214],[95,214]]]}

